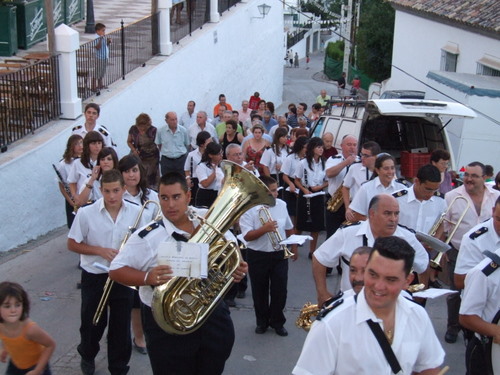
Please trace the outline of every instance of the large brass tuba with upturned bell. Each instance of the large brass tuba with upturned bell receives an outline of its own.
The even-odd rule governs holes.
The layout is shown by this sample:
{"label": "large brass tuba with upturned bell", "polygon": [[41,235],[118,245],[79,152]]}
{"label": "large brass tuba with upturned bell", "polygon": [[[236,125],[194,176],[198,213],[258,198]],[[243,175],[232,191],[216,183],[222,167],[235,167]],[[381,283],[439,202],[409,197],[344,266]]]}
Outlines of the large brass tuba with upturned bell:
{"label": "large brass tuba with upturned bell", "polygon": [[157,286],[151,309],[156,323],[167,333],[192,333],[205,322],[233,282],[241,262],[238,245],[224,233],[248,209],[276,202],[269,189],[242,166],[223,161],[224,186],[189,242],[208,243],[208,277],[173,277]]}

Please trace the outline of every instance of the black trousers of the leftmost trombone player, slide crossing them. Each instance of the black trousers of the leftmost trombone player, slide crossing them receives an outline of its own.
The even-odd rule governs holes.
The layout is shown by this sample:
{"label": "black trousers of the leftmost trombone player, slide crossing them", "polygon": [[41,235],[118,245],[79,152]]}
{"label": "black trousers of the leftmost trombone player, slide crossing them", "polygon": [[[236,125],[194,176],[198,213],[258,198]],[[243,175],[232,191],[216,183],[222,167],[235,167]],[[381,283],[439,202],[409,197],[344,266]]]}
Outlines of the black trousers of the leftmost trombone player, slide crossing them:
{"label": "black trousers of the leftmost trombone player, slide crossing them", "polygon": [[[108,327],[108,369],[113,375],[126,374],[132,354],[130,335],[130,313],[133,303],[133,289],[114,283],[106,308],[97,326],[92,323],[102,296],[107,273],[93,274],[82,270],[82,307],[80,344],[78,353],[83,359],[92,361],[99,353],[99,341]],[[108,316],[109,311],[109,316]]]}

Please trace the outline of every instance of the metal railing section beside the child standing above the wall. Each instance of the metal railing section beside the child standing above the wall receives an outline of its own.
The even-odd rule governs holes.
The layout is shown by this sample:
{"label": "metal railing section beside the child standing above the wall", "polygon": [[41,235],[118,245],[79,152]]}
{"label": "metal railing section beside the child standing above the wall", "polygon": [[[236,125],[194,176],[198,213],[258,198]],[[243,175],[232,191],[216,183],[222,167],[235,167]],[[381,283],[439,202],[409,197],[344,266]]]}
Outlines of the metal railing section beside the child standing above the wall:
{"label": "metal railing section beside the child standing above the wall", "polygon": [[98,39],[82,44],[76,52],[78,96],[82,100],[100,92],[113,82],[125,79],[132,70],[144,66],[158,53],[157,15],[124,26],[107,34],[107,58],[96,49]]}

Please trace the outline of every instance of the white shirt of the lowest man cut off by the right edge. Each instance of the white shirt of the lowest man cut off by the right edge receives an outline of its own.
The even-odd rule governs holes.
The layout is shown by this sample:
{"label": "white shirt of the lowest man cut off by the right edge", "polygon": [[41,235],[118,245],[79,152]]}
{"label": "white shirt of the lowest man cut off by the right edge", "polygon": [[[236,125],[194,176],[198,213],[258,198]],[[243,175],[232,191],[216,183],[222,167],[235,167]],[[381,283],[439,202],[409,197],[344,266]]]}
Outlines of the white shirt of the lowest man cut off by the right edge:
{"label": "white shirt of the lowest man cut off by the right edge", "polygon": [[[500,256],[500,249],[494,253]],[[490,268],[490,263],[491,259],[485,258],[467,273],[460,315],[477,315],[491,323],[500,310],[500,270],[498,269],[500,267],[487,276],[486,270]]]}

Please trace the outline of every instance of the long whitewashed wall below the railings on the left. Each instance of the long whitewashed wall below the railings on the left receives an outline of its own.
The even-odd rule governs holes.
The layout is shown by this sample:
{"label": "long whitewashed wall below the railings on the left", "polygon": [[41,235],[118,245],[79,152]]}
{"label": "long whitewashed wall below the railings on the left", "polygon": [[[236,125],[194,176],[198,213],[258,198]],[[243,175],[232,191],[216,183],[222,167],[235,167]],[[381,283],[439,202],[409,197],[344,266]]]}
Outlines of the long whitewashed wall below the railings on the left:
{"label": "long whitewashed wall below the railings on the left", "polygon": [[[99,122],[110,130],[120,155],[129,151],[128,129],[141,112],[161,127],[165,113],[174,110],[180,116],[188,100],[211,114],[220,93],[235,109],[254,91],[276,107],[281,104],[282,6],[272,1],[264,19],[252,19],[259,17],[259,4],[238,3],[220,23],[204,25],[174,46],[171,56],[154,58],[113,85],[109,95],[93,98],[101,105]],[[0,251],[65,225],[64,200],[51,163],[61,159],[71,128],[82,123],[80,118],[50,124],[0,155]]]}

